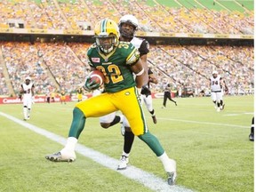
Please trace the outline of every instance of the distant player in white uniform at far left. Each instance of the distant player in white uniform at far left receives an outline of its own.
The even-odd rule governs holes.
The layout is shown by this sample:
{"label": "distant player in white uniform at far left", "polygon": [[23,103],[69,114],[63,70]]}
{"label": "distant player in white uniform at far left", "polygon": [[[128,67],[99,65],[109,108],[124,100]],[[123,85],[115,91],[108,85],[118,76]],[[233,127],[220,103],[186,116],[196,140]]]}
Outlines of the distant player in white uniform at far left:
{"label": "distant player in white uniform at far left", "polygon": [[23,116],[25,121],[30,118],[32,103],[34,102],[34,89],[35,86],[31,82],[31,78],[27,76],[20,89],[20,94],[23,94]]}

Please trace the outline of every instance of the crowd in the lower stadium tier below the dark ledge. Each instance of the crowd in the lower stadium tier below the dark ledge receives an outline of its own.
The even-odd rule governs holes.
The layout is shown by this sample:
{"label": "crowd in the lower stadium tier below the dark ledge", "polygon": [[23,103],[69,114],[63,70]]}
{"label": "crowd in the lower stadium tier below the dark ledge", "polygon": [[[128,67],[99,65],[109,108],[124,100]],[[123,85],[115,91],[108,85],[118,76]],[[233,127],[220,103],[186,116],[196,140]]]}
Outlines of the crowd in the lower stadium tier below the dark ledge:
{"label": "crowd in the lower stadium tier below the dark ledge", "polygon": [[[89,73],[86,50],[90,44],[0,44],[15,92],[25,76],[32,77],[36,94],[58,90],[54,83],[59,84],[59,89],[64,87],[67,92],[74,92]],[[152,45],[148,63],[159,78],[159,84],[152,87],[153,92],[163,92],[167,81],[172,82],[174,90],[189,87],[195,95],[209,92],[212,70],[218,70],[228,84],[229,94],[252,93],[253,47]],[[0,76],[0,95],[10,95],[3,68],[0,68]]]}

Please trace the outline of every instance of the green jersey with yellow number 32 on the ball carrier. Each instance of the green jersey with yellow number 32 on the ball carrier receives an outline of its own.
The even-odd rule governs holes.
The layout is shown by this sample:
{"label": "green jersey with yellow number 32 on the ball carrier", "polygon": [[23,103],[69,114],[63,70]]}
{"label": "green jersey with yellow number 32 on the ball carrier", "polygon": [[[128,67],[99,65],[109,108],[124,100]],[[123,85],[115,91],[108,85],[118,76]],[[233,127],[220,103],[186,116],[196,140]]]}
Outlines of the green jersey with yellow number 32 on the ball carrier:
{"label": "green jersey with yellow number 32 on the ball carrier", "polygon": [[105,92],[119,92],[135,86],[131,66],[140,60],[140,52],[130,42],[119,42],[113,52],[105,55],[92,44],[87,52],[89,65],[105,76]]}

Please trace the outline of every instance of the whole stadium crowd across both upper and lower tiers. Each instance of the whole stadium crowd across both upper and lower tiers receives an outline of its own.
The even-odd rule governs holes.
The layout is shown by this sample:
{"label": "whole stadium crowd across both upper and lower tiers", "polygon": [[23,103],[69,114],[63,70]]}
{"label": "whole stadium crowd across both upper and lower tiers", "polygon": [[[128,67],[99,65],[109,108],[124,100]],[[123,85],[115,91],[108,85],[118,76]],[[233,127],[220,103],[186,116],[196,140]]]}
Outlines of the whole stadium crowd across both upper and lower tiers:
{"label": "whole stadium crowd across both upper and lower tiers", "polygon": [[[253,34],[254,28],[253,11],[245,7],[244,12],[235,12],[210,10],[203,5],[171,8],[157,1],[149,5],[147,1],[134,0],[13,0],[1,1],[0,9],[0,28],[20,28],[17,23],[9,25],[18,20],[24,28],[90,30],[100,19],[109,17],[118,21],[129,12],[140,20],[139,31],[146,32],[246,35]],[[73,92],[89,71],[86,59],[89,44],[2,42],[0,45],[0,57],[9,76],[6,78],[4,66],[0,66],[0,95],[10,95],[9,81],[17,93],[28,75],[37,84],[37,94],[62,87]],[[215,69],[226,79],[230,94],[252,92],[253,47],[151,45],[148,62],[161,79],[152,87],[156,92],[162,92],[167,81],[172,82],[175,90],[189,87],[196,95],[208,92],[209,76]]]}

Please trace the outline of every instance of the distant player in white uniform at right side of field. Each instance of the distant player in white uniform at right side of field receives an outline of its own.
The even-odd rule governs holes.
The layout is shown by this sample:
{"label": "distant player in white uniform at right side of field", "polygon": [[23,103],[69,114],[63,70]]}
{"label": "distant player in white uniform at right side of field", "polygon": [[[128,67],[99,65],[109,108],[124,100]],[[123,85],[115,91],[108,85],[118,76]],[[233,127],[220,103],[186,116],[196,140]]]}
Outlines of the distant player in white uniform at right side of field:
{"label": "distant player in white uniform at right side of field", "polygon": [[214,103],[214,106],[218,112],[220,112],[220,110],[223,110],[225,106],[223,102],[223,85],[225,86],[225,91],[228,92],[227,85],[225,84],[221,76],[218,75],[218,72],[214,70],[210,78],[210,86],[212,102]]}

